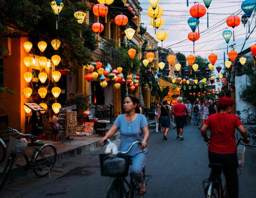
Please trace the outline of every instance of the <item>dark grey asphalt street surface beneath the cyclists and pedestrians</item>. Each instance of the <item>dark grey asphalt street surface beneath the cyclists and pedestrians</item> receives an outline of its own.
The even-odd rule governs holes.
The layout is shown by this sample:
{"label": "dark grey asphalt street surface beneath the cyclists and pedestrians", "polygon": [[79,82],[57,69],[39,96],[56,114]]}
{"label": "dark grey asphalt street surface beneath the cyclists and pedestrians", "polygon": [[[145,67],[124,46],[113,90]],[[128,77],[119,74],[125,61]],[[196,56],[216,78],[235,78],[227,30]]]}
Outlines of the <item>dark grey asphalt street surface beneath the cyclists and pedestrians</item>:
{"label": "dark grey asphalt street surface beneath the cyclists and pedestrians", "polygon": [[[203,179],[210,169],[207,146],[193,125],[184,128],[184,141],[170,129],[168,140],[151,133],[148,143],[148,181],[145,198],[204,198]],[[98,153],[79,155],[56,164],[49,178],[33,174],[4,187],[1,198],[104,198],[109,178],[100,176]],[[247,147],[245,167],[241,168],[240,198],[256,197],[256,148]]]}

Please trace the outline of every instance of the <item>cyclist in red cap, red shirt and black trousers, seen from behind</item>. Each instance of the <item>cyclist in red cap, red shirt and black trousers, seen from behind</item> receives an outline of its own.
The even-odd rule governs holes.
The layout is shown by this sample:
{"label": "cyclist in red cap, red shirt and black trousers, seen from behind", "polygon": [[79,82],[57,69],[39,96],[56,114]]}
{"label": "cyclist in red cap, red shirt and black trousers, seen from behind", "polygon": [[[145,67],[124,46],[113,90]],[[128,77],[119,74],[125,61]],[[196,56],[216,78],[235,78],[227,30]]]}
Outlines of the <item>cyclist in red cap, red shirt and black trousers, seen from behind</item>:
{"label": "cyclist in red cap, red shirt and black trousers, seen from behind", "polygon": [[[230,198],[238,198],[238,176],[237,176],[237,147],[235,139],[235,128],[243,136],[243,141],[249,143],[247,132],[239,118],[231,114],[233,99],[222,97],[218,100],[220,113],[211,114],[205,121],[201,134],[204,141],[209,141],[208,158],[210,163],[224,164],[228,193]],[[211,138],[207,136],[207,129],[211,128]],[[215,178],[214,170],[211,170],[210,178]]]}

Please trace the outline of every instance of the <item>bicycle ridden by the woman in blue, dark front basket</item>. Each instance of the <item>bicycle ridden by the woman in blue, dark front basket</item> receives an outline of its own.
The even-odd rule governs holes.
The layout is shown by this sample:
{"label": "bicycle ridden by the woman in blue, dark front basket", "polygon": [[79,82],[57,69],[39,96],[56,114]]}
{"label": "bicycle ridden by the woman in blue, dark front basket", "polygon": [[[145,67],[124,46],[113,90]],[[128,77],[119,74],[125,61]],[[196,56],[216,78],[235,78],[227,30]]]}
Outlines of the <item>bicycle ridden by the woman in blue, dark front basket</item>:
{"label": "bicycle ridden by the woman in blue, dark front basket", "polygon": [[[108,139],[108,143],[111,141]],[[125,152],[118,152],[117,155],[112,154],[99,154],[101,175],[115,177],[111,184],[106,198],[143,198],[143,195],[138,194],[138,190],[135,184],[134,177],[130,174],[130,183],[125,179],[128,176],[129,165],[131,164],[131,156],[127,153],[136,144],[140,142],[132,143],[131,147]],[[143,181],[145,181],[145,167],[143,168]],[[151,176],[150,176],[151,178]],[[148,180],[150,180],[150,178]],[[148,181],[147,180],[147,181]],[[145,185],[147,186],[147,181]]]}

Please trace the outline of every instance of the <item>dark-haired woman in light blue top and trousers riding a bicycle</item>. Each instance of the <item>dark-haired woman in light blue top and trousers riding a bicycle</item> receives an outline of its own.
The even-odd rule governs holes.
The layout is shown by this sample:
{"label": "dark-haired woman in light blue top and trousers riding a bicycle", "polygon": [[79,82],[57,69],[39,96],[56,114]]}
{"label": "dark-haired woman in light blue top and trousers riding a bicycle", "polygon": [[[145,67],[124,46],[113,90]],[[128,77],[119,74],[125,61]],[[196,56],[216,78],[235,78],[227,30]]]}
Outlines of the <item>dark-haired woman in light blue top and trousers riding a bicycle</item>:
{"label": "dark-haired woman in light blue top and trousers riding a bicycle", "polygon": [[124,111],[117,117],[109,132],[100,141],[100,145],[104,144],[105,139],[111,138],[118,130],[121,134],[120,151],[126,151],[135,141],[142,143],[140,147],[133,147],[129,152],[132,156],[131,173],[134,176],[136,185],[139,188],[139,195],[146,193],[146,186],[143,182],[143,167],[146,165],[147,157],[147,141],[149,138],[149,130],[146,117],[139,114],[138,99],[134,95],[127,95],[124,98]]}

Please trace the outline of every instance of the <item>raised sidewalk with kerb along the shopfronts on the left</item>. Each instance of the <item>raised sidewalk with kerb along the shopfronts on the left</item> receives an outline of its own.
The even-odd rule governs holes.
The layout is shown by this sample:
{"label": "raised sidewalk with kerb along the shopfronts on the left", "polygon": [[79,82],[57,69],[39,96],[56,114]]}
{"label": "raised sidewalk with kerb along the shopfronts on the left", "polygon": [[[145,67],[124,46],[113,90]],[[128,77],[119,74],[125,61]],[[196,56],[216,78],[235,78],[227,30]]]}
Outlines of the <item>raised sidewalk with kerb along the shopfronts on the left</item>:
{"label": "raised sidewalk with kerb along the shopfronts on the left", "polygon": [[[100,120],[107,120],[105,117],[102,117]],[[147,122],[149,125],[149,128],[154,127],[154,120],[148,120]],[[113,124],[108,124],[107,128],[111,128]],[[84,137],[72,137],[72,141],[56,141],[54,142],[54,146],[56,147],[57,150],[57,158],[56,158],[56,163],[63,161],[68,158],[72,158],[76,155],[79,154],[85,154],[87,152],[90,152],[94,149],[97,149],[100,147],[99,141],[102,139],[102,137],[99,137],[98,134],[93,134],[91,136],[84,136]],[[117,132],[111,140],[117,140],[120,138],[120,133]],[[48,140],[51,141],[51,140]],[[8,148],[8,145],[7,145]],[[26,148],[26,154],[28,155],[28,158],[30,159],[33,153],[34,147],[27,147]],[[9,156],[9,153],[7,154]],[[7,161],[7,158],[5,161],[0,165],[0,173],[3,171],[5,163]],[[26,165],[26,161],[22,155],[19,155],[16,164],[19,165]],[[13,181],[16,180],[22,176],[26,176],[33,172],[32,169],[29,171],[25,171],[24,167],[17,167],[14,166],[10,176],[8,177],[8,180]]]}

